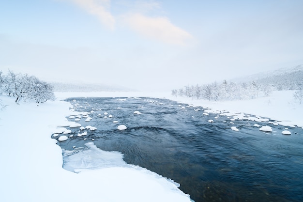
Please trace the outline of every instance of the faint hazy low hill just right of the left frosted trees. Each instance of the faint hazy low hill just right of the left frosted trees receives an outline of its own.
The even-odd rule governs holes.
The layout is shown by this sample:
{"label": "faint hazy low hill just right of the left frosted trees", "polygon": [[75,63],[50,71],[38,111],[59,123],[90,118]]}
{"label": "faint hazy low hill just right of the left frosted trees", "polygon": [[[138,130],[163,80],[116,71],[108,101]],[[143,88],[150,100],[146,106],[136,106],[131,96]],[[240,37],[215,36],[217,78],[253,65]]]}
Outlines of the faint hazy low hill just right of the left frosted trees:
{"label": "faint hazy low hill just right of the left frosted trees", "polygon": [[107,86],[103,84],[88,84],[88,83],[60,83],[60,82],[49,82],[54,87],[54,92],[127,92],[134,91],[118,86]]}

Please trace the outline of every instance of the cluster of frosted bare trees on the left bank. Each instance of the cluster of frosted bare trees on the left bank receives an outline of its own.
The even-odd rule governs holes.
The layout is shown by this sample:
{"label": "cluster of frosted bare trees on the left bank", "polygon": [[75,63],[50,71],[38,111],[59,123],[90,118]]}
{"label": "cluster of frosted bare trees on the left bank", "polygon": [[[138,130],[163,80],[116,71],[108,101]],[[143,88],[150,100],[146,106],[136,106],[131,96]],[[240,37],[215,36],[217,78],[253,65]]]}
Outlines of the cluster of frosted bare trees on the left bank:
{"label": "cluster of frosted bare trees on the left bank", "polygon": [[0,94],[15,97],[15,103],[21,100],[34,100],[37,104],[54,100],[54,88],[45,81],[28,74],[14,73],[9,70],[5,75],[0,71]]}

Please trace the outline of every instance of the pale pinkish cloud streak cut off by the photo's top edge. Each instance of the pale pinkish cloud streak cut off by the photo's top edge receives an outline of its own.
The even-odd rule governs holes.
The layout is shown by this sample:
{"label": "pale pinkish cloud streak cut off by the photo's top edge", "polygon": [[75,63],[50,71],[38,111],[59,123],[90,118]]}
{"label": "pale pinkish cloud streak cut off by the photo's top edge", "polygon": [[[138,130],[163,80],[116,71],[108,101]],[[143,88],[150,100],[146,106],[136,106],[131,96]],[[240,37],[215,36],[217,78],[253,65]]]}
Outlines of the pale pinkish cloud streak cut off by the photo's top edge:
{"label": "pale pinkish cloud streak cut off by the photo's top edge", "polygon": [[110,0],[70,0],[86,10],[91,15],[97,16],[107,28],[115,28],[115,18],[108,12]]}

